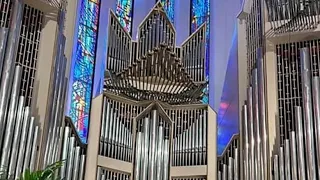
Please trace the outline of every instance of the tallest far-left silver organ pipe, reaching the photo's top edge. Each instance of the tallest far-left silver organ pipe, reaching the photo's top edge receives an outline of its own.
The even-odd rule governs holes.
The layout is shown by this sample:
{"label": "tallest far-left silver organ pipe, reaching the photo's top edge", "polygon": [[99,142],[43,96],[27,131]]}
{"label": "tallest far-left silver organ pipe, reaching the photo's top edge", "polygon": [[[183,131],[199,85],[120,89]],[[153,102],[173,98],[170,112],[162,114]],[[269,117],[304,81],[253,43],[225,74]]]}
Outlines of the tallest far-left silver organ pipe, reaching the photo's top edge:
{"label": "tallest far-left silver organ pipe, reaching the photo's top edge", "polygon": [[11,23],[8,34],[8,42],[5,52],[5,59],[2,69],[0,85],[0,148],[4,135],[4,125],[6,124],[6,111],[8,108],[9,97],[11,94],[15,60],[17,56],[20,29],[22,24],[24,7],[22,0],[15,0],[13,2],[12,7],[13,9],[11,14]]}

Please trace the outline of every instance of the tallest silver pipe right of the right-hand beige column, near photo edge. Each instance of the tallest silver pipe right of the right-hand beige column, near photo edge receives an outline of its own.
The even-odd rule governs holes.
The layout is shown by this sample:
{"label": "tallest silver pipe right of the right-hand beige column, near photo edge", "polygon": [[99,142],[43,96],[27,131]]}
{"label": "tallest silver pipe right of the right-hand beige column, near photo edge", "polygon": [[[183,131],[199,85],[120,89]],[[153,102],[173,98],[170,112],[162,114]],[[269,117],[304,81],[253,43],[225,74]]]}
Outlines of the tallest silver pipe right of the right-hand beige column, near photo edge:
{"label": "tallest silver pipe right of the right-hand beige column, near photo edge", "polygon": [[311,73],[310,73],[310,57],[309,49],[300,49],[301,63],[301,79],[302,79],[302,94],[303,94],[303,117],[304,117],[304,132],[306,143],[307,157],[307,179],[316,180],[316,162],[315,162],[315,147],[314,147],[314,132],[313,132],[313,114],[312,114],[312,95],[311,95]]}

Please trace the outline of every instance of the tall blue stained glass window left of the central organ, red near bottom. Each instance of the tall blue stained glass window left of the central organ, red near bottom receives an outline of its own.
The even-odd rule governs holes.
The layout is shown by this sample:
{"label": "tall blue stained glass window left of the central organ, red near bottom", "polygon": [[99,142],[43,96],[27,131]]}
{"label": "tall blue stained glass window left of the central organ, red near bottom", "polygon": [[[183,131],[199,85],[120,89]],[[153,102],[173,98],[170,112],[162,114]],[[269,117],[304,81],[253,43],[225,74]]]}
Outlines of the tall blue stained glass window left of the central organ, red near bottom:
{"label": "tall blue stained glass window left of the central organ, red near bottom", "polygon": [[99,0],[81,0],[69,115],[86,143],[99,23]]}

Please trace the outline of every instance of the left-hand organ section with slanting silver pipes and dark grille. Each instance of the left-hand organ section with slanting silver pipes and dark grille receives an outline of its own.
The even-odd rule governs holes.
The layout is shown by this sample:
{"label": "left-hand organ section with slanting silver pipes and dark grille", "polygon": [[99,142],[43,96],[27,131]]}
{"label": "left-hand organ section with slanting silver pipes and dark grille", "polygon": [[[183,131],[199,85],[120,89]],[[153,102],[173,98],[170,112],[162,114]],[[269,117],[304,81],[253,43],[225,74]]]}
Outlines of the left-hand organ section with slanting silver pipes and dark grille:
{"label": "left-hand organ section with slanting silver pipes and dark grille", "polygon": [[37,98],[33,92],[45,13],[22,0],[0,0],[0,179],[18,179],[27,169],[35,171],[59,160],[64,160],[57,172],[61,177],[84,178],[86,145],[71,120],[64,117],[68,85],[63,34],[66,2],[42,3],[58,12],[47,127],[41,126],[43,122],[32,108]]}

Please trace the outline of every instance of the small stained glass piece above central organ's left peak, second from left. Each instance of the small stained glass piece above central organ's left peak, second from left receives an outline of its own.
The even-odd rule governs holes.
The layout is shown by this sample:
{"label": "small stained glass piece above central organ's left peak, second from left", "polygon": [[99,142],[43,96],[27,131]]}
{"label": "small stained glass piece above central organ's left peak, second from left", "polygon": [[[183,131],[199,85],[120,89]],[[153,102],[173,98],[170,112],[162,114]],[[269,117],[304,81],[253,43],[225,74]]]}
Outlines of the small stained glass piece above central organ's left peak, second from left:
{"label": "small stained glass piece above central organ's left peak, second from left", "polygon": [[116,15],[120,21],[120,24],[130,34],[132,24],[132,0],[118,0]]}

